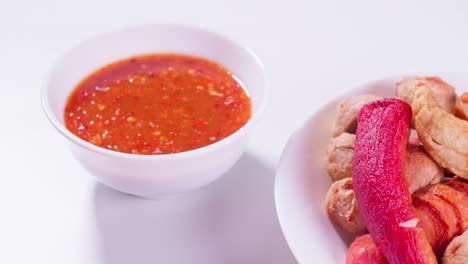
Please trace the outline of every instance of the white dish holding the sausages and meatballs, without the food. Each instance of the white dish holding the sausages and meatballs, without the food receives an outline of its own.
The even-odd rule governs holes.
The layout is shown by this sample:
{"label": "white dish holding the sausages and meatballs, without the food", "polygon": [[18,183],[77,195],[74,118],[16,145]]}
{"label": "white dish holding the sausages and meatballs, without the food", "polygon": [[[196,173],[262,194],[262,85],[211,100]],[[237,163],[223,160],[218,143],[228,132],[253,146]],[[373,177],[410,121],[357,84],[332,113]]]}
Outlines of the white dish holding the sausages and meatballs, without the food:
{"label": "white dish holding the sausages and meatballs, without the food", "polygon": [[[468,87],[466,71],[409,75],[439,76],[454,85],[457,93]],[[395,85],[403,77],[378,79],[345,92],[321,106],[289,139],[277,168],[275,203],[286,241],[299,263],[343,264],[353,240],[335,229],[325,212],[331,180],[324,159],[336,105],[360,94],[394,97]]]}

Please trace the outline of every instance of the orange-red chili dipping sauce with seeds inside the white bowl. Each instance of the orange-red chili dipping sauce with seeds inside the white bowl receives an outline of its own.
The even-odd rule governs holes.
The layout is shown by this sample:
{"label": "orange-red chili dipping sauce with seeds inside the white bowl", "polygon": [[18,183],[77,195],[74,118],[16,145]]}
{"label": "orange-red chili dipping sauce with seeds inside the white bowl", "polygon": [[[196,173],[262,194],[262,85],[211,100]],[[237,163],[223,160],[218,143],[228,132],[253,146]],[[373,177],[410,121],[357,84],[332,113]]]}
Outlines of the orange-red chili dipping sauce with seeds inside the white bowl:
{"label": "orange-red chili dipping sauce with seeds inside the white bowl", "polygon": [[65,107],[65,126],[96,146],[168,154],[217,142],[252,114],[242,82],[212,61],[178,54],[132,57],[84,79]]}

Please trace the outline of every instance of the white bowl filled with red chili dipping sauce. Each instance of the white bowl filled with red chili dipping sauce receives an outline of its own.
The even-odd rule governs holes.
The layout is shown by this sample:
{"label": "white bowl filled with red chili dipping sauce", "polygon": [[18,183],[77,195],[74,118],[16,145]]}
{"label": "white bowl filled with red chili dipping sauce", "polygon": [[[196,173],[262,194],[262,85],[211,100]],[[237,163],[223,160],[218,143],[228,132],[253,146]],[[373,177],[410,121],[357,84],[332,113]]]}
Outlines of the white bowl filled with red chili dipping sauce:
{"label": "white bowl filled with red chili dipping sauce", "polygon": [[140,25],[62,56],[42,105],[99,182],[145,198],[206,185],[244,152],[263,112],[260,60],[219,34]]}

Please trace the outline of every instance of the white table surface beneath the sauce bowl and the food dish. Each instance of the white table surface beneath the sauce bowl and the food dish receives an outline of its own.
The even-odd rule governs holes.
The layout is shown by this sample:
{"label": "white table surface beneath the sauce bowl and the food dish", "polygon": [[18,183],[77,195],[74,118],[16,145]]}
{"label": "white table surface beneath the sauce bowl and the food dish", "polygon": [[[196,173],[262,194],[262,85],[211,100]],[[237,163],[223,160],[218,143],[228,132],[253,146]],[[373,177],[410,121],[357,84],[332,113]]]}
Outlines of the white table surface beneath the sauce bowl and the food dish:
{"label": "white table surface beneath the sauce bowl and the food dish", "polygon": [[[468,66],[466,1],[0,0],[0,263],[295,263],[273,200],[289,135],[321,103],[392,73]],[[184,23],[263,60],[272,91],[220,180],[162,201],[97,184],[43,115],[54,59],[98,32]]]}

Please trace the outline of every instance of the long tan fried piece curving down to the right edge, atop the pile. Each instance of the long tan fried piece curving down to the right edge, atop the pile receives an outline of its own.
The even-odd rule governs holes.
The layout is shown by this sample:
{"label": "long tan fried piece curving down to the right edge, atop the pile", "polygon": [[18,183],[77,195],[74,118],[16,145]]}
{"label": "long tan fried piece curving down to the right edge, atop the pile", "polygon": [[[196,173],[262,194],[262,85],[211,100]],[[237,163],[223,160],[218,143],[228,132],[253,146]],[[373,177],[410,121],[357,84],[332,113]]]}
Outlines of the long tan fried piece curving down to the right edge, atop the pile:
{"label": "long tan fried piece curving down to the right edge, atop the pile", "polygon": [[468,178],[468,121],[443,110],[425,83],[414,86],[412,108],[424,148],[439,166]]}

